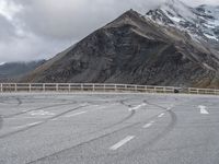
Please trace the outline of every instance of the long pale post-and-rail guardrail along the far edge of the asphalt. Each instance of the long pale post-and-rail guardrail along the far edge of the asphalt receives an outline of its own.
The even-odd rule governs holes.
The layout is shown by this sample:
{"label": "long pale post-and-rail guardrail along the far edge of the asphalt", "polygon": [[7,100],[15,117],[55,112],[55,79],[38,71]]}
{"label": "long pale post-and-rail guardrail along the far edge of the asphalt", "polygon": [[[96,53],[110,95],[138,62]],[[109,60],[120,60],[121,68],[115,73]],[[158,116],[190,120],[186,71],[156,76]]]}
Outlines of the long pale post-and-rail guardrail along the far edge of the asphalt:
{"label": "long pale post-and-rail guardrail along the far edge of the asphalt", "polygon": [[219,95],[214,89],[181,89],[134,84],[100,83],[0,83],[0,92],[136,92],[136,93],[186,93]]}

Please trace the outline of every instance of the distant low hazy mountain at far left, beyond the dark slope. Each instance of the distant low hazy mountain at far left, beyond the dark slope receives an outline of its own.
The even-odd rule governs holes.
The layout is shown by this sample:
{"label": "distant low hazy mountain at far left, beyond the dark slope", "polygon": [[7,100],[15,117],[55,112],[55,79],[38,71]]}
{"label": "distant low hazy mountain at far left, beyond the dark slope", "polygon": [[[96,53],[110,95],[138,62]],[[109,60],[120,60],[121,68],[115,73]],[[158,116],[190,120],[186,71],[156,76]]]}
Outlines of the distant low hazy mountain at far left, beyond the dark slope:
{"label": "distant low hazy mountain at far left, beyond the dark slope", "polygon": [[0,82],[14,82],[18,81],[26,73],[33,71],[45,60],[31,61],[31,62],[2,62],[0,65]]}

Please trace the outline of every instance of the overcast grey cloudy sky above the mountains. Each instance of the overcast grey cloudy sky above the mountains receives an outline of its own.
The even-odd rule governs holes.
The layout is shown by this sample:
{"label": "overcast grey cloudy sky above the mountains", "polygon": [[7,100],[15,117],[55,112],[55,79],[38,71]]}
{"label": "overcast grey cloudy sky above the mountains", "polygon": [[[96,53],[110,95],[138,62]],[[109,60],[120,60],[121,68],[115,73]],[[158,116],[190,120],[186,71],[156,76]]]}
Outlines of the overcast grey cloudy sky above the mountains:
{"label": "overcast grey cloudy sky above the mountains", "polygon": [[[0,0],[0,65],[48,59],[126,10],[145,13],[163,1]],[[219,4],[219,0],[182,1]]]}

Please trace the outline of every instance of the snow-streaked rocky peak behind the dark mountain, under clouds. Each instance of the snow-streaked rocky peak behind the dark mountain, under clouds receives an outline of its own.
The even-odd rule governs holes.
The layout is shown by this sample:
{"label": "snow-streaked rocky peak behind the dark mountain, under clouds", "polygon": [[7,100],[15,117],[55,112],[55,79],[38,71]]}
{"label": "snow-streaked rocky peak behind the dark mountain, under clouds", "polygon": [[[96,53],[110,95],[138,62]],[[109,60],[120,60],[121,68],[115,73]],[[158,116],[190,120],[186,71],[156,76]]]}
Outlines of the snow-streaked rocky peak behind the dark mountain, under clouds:
{"label": "snow-streaked rocky peak behind the dark mountain, under clouds", "polygon": [[168,0],[146,16],[159,24],[187,31],[197,39],[219,43],[219,7],[191,8],[178,0]]}

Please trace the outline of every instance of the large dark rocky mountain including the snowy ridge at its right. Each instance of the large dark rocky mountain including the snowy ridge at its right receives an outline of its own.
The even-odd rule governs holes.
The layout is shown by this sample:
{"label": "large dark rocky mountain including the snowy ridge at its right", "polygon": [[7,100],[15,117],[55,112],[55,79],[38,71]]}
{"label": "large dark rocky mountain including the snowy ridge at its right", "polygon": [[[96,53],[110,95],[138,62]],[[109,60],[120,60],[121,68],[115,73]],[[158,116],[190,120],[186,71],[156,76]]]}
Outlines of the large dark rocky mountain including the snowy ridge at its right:
{"label": "large dark rocky mountain including the snowy ridge at its right", "polygon": [[[177,0],[146,15],[129,10],[22,81],[219,87],[217,11]],[[203,19],[212,28],[195,27]]]}

